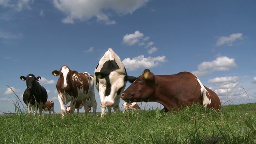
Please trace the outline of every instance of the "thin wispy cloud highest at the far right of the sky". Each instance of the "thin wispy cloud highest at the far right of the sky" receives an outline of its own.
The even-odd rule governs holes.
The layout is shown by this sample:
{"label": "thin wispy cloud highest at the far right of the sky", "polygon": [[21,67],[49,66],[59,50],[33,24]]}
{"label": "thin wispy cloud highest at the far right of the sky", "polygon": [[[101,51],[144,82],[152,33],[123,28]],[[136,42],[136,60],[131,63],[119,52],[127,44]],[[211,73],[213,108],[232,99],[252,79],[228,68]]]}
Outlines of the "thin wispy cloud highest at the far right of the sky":
{"label": "thin wispy cloud highest at the far right of the sky", "polygon": [[218,38],[216,42],[216,46],[222,46],[222,45],[233,46],[234,42],[242,39],[244,39],[242,33],[230,34],[230,36],[221,36]]}

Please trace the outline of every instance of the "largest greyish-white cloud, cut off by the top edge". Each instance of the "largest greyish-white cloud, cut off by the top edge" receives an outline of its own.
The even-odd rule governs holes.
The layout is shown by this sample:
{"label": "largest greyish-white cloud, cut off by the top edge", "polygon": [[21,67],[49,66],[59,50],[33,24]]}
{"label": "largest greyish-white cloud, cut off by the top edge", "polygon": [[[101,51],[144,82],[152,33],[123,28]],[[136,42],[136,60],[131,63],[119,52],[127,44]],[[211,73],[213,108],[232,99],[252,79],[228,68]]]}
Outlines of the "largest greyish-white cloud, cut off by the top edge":
{"label": "largest greyish-white cloud, cut off by the top edge", "polygon": [[[114,11],[119,16],[132,14],[138,8],[144,6],[148,0],[54,0],[54,6],[67,16],[64,23],[74,24],[74,20],[89,20],[93,17],[106,24],[115,24],[110,20]],[[109,10],[109,11],[108,11]]]}

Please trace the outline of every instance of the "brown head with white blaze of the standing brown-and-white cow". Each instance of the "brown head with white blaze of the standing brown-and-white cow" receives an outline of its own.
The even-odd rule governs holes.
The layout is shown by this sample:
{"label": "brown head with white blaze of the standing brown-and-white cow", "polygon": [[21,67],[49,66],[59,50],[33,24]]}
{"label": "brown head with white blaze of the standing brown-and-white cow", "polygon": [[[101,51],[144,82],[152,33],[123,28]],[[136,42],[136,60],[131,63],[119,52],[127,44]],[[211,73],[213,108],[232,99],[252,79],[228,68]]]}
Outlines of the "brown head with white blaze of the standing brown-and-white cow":
{"label": "brown head with white blaze of the standing brown-and-white cow", "polygon": [[60,70],[52,71],[52,75],[60,76],[57,84],[60,84],[60,87],[63,89],[68,89],[68,86],[71,84],[72,76],[76,76],[77,74],[77,71],[70,70],[66,65],[62,66]]}

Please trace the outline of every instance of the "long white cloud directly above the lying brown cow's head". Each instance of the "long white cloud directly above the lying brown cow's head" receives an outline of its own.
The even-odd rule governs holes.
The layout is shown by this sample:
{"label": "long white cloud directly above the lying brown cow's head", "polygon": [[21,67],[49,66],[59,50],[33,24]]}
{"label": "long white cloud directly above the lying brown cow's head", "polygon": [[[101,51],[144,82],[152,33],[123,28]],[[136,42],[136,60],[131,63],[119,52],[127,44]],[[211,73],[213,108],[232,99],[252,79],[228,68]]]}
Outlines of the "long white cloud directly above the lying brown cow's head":
{"label": "long white cloud directly above the lying brown cow's head", "polygon": [[135,58],[125,58],[122,63],[127,70],[133,71],[140,68],[153,68],[160,64],[160,62],[166,62],[166,56],[148,57],[144,58],[143,55]]}

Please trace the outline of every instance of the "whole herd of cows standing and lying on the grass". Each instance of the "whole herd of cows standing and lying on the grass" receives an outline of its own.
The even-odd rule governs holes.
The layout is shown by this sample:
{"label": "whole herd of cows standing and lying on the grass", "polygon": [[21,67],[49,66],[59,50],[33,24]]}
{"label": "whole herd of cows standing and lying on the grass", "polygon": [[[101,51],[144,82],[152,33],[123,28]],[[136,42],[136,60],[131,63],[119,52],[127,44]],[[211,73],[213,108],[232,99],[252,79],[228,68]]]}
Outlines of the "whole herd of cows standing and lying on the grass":
{"label": "whole herd of cows standing and lying on the grass", "polygon": [[[109,48],[100,59],[94,70],[94,75],[88,72],[77,72],[70,70],[66,65],[60,70],[52,72],[59,76],[56,89],[60,102],[62,118],[65,112],[73,114],[74,110],[84,106],[84,113],[87,116],[90,108],[96,115],[97,102],[94,94],[94,86],[100,95],[101,117],[104,116],[106,107],[108,115],[111,108],[114,113],[119,111],[119,102],[122,98],[124,110],[140,107],[136,102],[158,102],[164,106],[165,111],[178,110],[181,107],[199,103],[206,108],[220,110],[220,99],[215,92],[204,86],[200,80],[190,72],[180,72],[172,75],[155,75],[149,69],[145,69],[138,77],[128,76],[119,56]],[[54,113],[54,103],[47,101],[48,95],[44,87],[40,86],[40,76],[33,74],[20,76],[26,80],[27,88],[23,94],[23,101],[28,107],[28,113],[34,114],[38,108]],[[126,82],[132,83],[125,91]],[[66,106],[70,102],[70,106]]]}

